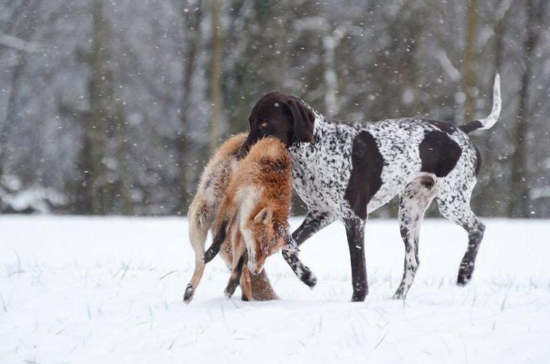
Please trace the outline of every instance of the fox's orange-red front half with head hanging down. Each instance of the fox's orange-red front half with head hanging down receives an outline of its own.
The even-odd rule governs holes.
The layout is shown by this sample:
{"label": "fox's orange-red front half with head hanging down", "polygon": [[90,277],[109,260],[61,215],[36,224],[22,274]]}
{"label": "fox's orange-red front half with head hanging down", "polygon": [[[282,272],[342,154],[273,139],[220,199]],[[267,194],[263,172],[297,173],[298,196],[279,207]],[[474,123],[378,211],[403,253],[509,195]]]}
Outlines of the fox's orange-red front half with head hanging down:
{"label": "fox's orange-red front half with head hanging down", "polygon": [[[277,250],[296,248],[289,246],[294,242],[288,224],[291,168],[285,144],[276,138],[264,138],[254,144],[230,174],[214,224],[218,230],[204,255],[208,263],[218,253],[225,237],[231,237],[233,264],[225,288],[227,297],[232,296],[240,280],[243,299],[248,299],[246,281],[250,273],[261,274],[265,259]],[[247,266],[244,265],[246,255]]]}

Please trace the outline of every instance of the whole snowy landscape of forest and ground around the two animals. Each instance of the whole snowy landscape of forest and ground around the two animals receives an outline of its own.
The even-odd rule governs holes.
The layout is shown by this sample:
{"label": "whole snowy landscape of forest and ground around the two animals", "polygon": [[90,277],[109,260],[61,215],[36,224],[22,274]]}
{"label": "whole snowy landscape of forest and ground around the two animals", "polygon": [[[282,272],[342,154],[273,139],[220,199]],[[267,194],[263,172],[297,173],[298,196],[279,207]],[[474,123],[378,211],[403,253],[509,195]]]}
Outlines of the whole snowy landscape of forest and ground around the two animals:
{"label": "whole snowy landscape of forest and ground around the two animals", "polygon": [[[0,0],[0,364],[550,363],[549,19],[547,0]],[[472,134],[487,230],[468,286],[465,231],[430,218],[391,299],[393,203],[366,224],[364,303],[340,222],[301,248],[314,290],[277,254],[281,300],[228,301],[214,259],[181,302],[182,215],[264,92],[460,125],[489,113],[496,72],[500,120]],[[296,197],[292,228],[303,213]]]}

